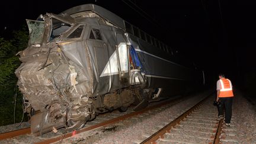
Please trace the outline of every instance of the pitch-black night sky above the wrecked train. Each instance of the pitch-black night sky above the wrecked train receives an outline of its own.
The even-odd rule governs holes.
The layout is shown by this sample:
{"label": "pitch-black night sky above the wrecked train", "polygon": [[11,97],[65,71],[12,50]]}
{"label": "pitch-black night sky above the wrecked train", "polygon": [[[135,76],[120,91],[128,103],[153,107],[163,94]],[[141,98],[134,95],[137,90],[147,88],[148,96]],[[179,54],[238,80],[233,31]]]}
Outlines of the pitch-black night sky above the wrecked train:
{"label": "pitch-black night sky above the wrecked train", "polygon": [[[2,2],[1,2],[2,3]],[[209,76],[238,78],[256,68],[256,5],[248,1],[9,1],[1,4],[2,37],[25,19],[100,5],[194,60]]]}

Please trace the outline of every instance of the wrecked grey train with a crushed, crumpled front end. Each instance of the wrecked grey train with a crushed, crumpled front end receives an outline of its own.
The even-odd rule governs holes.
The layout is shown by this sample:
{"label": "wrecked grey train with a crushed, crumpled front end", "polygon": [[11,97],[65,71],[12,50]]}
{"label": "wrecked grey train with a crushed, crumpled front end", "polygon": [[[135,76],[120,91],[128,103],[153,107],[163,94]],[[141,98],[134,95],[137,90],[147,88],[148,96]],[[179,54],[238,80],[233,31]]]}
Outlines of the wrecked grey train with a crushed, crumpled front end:
{"label": "wrecked grey train with a crushed, crumpled front end", "polygon": [[99,113],[131,104],[138,110],[204,83],[203,71],[98,5],[27,24],[30,39],[15,74],[33,133],[79,129]]}

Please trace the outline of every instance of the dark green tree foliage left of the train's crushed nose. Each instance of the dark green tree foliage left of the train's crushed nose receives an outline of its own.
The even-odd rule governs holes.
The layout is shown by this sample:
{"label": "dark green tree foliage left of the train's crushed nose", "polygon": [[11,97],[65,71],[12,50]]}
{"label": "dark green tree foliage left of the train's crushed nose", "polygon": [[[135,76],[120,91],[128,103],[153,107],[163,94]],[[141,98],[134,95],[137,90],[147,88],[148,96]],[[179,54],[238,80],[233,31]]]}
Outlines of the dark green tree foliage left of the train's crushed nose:
{"label": "dark green tree foliage left of the train's crushed nose", "polygon": [[[13,31],[9,40],[0,36],[0,126],[18,122],[23,116],[22,95],[16,86],[17,77],[14,72],[21,64],[16,54],[27,47],[27,41],[28,30],[25,26]],[[14,95],[17,95],[16,110]]]}

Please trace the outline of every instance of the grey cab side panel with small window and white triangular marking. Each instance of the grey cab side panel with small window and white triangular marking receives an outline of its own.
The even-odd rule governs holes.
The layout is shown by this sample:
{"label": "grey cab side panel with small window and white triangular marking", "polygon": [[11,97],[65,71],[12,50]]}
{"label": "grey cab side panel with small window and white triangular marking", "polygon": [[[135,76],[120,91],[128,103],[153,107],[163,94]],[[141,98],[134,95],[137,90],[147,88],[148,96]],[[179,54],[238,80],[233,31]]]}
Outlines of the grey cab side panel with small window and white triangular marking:
{"label": "grey cab side panel with small window and white triangular marking", "polygon": [[126,41],[117,30],[100,24],[87,27],[87,46],[91,53],[92,71],[95,73],[95,95],[106,94],[129,84]]}

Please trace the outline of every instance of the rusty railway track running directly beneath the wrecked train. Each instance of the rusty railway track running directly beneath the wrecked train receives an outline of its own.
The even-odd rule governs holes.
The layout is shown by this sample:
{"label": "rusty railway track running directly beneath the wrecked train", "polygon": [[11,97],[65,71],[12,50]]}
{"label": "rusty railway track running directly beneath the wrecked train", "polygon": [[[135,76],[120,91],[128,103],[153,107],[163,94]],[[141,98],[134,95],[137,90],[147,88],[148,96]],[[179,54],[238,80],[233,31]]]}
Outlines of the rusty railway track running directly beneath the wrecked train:
{"label": "rusty railway track running directly beneath the wrecked train", "polygon": [[65,133],[64,130],[62,129],[62,133],[65,133],[65,134],[60,133],[59,135],[56,134],[57,136],[56,135],[45,136],[45,135],[49,135],[49,133],[46,133],[44,134],[44,137],[40,137],[39,135],[32,134],[30,127],[28,127],[25,129],[15,130],[12,132],[0,133],[0,140],[9,139],[16,136],[27,135],[28,137],[30,137],[30,139],[37,139],[33,143],[53,143],[53,142],[57,142],[59,140],[65,139],[67,137],[71,137],[72,135],[74,135],[74,133],[78,134],[78,133],[86,132],[88,130],[97,129],[98,127],[107,126],[108,124],[111,124],[111,123],[117,123],[117,121],[121,121],[129,117],[133,117],[138,114],[145,113],[145,111],[153,110],[154,108],[161,107],[162,105],[167,105],[170,103],[178,103],[178,101],[182,101],[183,99],[184,97],[183,98],[174,97],[165,102],[151,104],[149,105],[148,108],[145,108],[140,111],[133,111],[133,107],[129,107],[129,109],[124,113],[120,113],[119,111],[115,110],[112,113],[100,114],[99,116],[96,117],[95,120],[88,121],[86,124],[87,127],[80,130],[76,130],[75,132]]}

